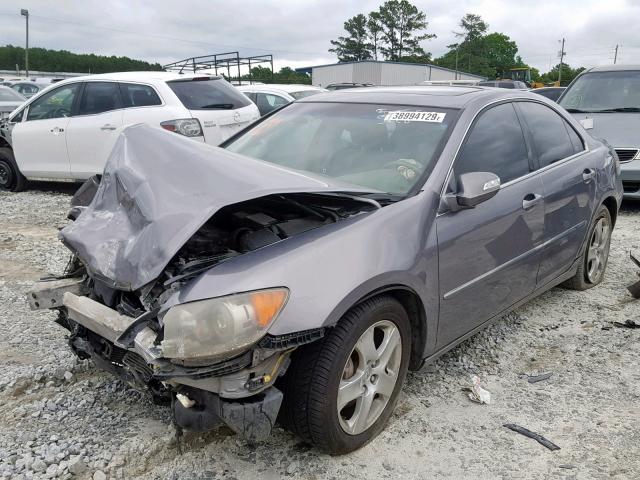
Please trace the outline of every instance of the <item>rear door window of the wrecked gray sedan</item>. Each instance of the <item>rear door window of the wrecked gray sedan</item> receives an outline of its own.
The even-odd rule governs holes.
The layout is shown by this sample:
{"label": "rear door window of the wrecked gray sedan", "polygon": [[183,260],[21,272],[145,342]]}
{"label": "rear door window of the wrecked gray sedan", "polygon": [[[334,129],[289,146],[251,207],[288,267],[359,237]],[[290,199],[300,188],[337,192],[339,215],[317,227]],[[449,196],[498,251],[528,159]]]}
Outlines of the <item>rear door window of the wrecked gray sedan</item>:
{"label": "rear door window of the wrecked gray sedan", "polygon": [[540,168],[574,154],[566,122],[558,113],[540,103],[518,102],[518,107],[531,131]]}

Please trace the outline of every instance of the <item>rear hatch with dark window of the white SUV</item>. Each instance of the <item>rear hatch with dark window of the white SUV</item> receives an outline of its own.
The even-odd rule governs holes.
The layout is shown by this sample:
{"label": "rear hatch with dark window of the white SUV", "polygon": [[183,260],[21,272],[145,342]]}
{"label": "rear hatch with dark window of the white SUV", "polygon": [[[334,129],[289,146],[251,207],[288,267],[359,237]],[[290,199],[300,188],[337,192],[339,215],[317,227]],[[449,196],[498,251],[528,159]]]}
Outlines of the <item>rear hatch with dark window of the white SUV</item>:
{"label": "rear hatch with dark window of the white SUV", "polygon": [[167,82],[193,118],[200,121],[205,142],[219,145],[260,117],[257,107],[233,85],[217,77]]}

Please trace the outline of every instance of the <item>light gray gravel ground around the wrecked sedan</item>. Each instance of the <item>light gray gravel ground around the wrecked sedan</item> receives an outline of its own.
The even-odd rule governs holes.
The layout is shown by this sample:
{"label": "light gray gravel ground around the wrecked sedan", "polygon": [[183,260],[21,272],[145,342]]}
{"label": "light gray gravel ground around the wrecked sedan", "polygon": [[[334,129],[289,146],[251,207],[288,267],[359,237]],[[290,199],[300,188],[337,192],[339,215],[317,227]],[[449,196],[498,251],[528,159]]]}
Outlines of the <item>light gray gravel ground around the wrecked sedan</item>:
{"label": "light gray gravel ground around the wrecked sedan", "polygon": [[[602,285],[549,291],[411,373],[387,429],[358,452],[330,457],[281,428],[258,446],[226,428],[178,445],[168,409],[76,360],[54,315],[29,311],[24,298],[66,263],[56,231],[72,191],[0,192],[0,478],[640,477],[640,330],[612,327],[640,320],[625,290],[640,205],[623,206]],[[528,383],[525,374],[546,371],[550,379]],[[473,374],[490,405],[463,391]]]}

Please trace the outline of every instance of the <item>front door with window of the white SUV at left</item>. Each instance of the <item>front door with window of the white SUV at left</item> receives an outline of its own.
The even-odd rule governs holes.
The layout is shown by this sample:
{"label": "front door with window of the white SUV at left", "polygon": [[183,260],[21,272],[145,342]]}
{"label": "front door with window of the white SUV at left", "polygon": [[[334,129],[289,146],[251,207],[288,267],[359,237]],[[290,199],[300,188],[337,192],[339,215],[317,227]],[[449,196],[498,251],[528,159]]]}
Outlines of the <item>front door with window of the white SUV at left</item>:
{"label": "front door with window of the white SUV at left", "polygon": [[70,178],[66,131],[80,83],[61,85],[36,99],[12,132],[13,151],[27,177]]}

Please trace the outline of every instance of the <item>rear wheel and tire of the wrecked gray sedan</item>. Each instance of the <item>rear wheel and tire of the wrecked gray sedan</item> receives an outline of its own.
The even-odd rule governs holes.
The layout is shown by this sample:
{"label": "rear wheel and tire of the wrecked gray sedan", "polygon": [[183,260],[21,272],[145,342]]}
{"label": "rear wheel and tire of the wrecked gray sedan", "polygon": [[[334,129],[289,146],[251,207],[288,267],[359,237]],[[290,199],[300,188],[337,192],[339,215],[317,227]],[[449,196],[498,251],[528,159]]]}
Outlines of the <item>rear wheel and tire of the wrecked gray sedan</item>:
{"label": "rear wheel and tire of the wrecked gray sedan", "polygon": [[609,209],[602,205],[589,228],[587,246],[578,271],[562,284],[564,287],[572,290],[587,290],[602,282],[609,260],[612,230],[611,214]]}

